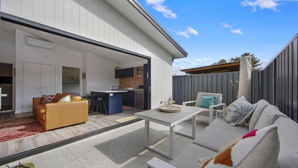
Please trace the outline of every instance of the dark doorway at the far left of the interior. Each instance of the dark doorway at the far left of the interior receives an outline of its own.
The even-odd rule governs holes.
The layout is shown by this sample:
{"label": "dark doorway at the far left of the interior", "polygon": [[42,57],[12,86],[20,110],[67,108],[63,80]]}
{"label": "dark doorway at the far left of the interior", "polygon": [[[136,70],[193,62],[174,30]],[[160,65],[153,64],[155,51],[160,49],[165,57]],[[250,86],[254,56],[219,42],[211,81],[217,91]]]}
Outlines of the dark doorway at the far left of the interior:
{"label": "dark doorway at the far left of the interior", "polygon": [[13,64],[0,62],[0,88],[2,94],[7,97],[1,98],[0,112],[11,112],[13,110]]}

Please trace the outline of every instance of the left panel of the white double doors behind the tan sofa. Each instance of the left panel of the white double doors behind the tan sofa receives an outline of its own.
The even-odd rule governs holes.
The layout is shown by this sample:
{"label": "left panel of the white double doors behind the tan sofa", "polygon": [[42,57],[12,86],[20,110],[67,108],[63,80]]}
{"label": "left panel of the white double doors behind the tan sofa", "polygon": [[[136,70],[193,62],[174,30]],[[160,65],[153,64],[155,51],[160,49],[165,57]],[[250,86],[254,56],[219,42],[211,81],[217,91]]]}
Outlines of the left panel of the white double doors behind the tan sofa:
{"label": "left panel of the white double doors behind the tan sofa", "polygon": [[32,98],[40,97],[40,64],[23,62],[23,113],[32,112]]}

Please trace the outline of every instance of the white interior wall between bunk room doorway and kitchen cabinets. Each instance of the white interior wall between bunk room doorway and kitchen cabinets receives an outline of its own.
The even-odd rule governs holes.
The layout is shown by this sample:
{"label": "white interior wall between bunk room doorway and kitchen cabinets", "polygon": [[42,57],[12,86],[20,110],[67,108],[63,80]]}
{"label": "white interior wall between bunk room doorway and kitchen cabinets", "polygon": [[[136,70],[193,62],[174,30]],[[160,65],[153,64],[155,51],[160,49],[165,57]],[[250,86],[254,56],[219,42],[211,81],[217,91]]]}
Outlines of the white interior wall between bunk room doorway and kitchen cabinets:
{"label": "white interior wall between bunk room doorway and kitchen cabinets", "polygon": [[112,85],[119,85],[119,79],[115,79],[114,70],[117,66],[119,65],[114,62],[87,52],[86,90],[111,90]]}

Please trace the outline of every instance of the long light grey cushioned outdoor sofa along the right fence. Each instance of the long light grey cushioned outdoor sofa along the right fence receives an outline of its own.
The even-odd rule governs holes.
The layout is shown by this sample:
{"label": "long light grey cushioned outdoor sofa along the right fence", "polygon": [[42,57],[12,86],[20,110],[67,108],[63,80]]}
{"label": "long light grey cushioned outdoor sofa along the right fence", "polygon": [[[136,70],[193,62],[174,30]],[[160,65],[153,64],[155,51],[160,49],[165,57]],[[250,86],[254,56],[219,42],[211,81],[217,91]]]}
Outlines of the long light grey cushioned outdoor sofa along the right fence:
{"label": "long light grey cushioned outdoor sofa along the right fence", "polygon": [[170,164],[158,158],[151,159],[147,164],[151,168],[198,168],[198,158],[216,155],[229,141],[242,137],[253,129],[262,129],[269,125],[278,126],[278,168],[298,167],[298,124],[266,100],[257,102],[249,124],[246,123],[243,127],[230,126],[224,118],[216,118]]}

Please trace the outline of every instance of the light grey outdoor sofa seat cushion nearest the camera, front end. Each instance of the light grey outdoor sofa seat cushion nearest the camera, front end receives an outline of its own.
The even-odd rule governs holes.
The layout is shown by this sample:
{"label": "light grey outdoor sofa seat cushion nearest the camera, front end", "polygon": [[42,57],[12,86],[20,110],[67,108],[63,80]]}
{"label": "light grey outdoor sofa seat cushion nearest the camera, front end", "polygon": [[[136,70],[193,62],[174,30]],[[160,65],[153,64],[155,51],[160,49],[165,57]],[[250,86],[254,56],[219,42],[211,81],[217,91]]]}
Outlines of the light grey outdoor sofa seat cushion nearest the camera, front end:
{"label": "light grey outdoor sofa seat cushion nearest the camera, front end", "polygon": [[216,155],[216,153],[191,143],[170,164],[177,168],[198,168],[198,158],[205,158],[210,155]]}

